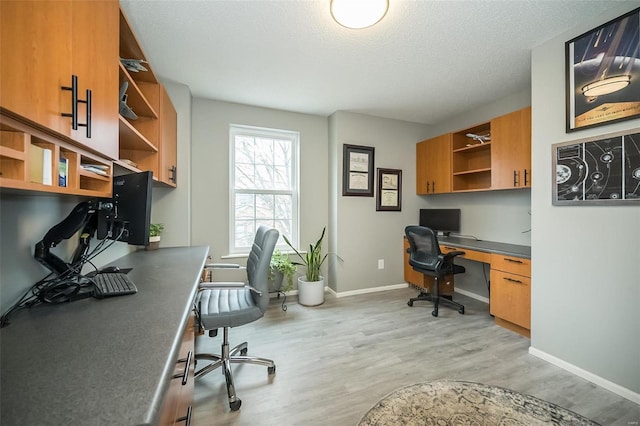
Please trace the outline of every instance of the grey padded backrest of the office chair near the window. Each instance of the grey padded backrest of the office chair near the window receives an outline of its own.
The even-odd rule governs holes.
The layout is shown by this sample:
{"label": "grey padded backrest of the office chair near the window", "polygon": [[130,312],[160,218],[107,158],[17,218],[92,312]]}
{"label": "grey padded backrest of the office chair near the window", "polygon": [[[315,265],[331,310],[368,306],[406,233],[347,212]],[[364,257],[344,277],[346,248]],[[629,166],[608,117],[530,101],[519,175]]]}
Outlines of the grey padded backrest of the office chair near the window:
{"label": "grey padded backrest of the office chair near the window", "polygon": [[269,305],[269,265],[280,233],[277,229],[260,226],[253,240],[247,259],[247,280],[249,285],[262,292],[251,293],[253,300],[264,312]]}

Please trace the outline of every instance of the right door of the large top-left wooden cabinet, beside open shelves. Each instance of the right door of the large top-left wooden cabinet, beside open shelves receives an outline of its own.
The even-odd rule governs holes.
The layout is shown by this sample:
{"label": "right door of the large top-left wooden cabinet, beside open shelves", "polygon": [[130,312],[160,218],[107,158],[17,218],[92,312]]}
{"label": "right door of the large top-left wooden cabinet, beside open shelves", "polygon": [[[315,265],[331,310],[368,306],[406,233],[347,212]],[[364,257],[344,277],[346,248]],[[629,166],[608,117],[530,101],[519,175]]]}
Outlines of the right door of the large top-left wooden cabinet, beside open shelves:
{"label": "right door of the large top-left wooden cabinet, beside open shelves", "polygon": [[[91,90],[91,137],[87,129],[70,136],[101,154],[118,158],[118,25],[117,0],[73,3],[72,73],[78,76],[78,97]],[[87,121],[86,104],[78,106],[78,121]]]}

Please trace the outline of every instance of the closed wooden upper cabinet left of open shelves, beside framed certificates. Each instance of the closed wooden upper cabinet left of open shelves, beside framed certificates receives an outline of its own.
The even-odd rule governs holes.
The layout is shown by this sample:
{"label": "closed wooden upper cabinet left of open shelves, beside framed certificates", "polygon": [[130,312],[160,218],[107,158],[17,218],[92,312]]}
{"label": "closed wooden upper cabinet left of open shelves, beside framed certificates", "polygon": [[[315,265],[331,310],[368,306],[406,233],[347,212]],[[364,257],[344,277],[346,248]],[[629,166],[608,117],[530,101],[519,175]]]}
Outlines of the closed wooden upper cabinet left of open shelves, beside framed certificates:
{"label": "closed wooden upper cabinet left of open shelves, beside framed certificates", "polygon": [[451,192],[451,133],[416,144],[416,193]]}

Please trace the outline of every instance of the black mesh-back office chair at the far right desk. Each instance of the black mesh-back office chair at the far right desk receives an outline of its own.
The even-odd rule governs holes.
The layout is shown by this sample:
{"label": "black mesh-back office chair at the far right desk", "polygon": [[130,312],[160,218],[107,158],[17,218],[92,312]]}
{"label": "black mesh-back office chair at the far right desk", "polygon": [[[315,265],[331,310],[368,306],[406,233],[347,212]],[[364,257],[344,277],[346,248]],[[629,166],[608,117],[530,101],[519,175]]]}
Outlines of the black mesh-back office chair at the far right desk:
{"label": "black mesh-back office chair at the far right desk", "polygon": [[440,302],[449,303],[458,308],[458,312],[464,314],[464,306],[454,302],[451,296],[440,296],[439,284],[444,281],[447,275],[460,274],[465,272],[464,266],[455,265],[453,259],[464,254],[463,251],[452,251],[443,254],[440,251],[438,237],[431,229],[424,226],[407,226],[404,230],[409,241],[409,264],[417,272],[434,278],[431,293],[420,291],[417,297],[409,299],[407,305],[413,306],[413,302],[418,300],[429,300],[433,302],[431,315],[438,316],[438,305]]}

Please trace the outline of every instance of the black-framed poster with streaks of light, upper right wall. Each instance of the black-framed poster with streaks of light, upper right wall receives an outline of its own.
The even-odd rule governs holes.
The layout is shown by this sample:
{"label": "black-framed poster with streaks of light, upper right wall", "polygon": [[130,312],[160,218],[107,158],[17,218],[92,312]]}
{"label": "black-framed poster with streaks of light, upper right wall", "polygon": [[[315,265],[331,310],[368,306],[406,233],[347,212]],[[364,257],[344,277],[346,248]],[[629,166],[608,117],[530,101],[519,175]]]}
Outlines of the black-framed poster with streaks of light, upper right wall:
{"label": "black-framed poster with streaks of light, upper right wall", "polygon": [[640,8],[565,43],[567,132],[640,116]]}

